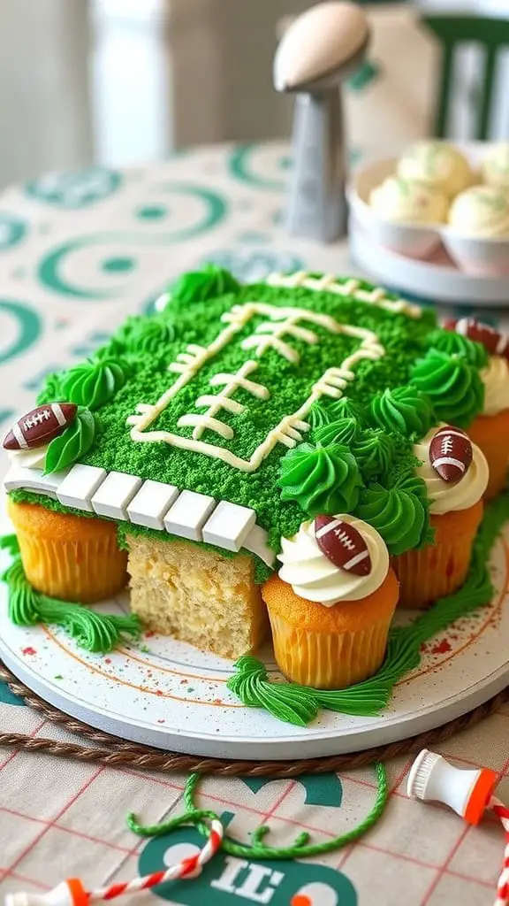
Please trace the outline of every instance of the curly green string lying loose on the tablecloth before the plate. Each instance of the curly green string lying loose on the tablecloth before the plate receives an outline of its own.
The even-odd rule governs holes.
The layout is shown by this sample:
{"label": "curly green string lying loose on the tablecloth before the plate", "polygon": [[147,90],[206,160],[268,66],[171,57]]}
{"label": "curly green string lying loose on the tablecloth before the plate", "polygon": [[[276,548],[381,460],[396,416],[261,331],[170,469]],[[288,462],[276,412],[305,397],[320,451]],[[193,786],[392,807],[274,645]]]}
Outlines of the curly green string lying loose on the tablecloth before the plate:
{"label": "curly green string lying loose on the tablecloth before the plate", "polygon": [[[340,834],[339,836],[334,837],[333,840],[327,840],[325,843],[309,843],[310,834],[303,832],[295,837],[295,840],[290,846],[265,846],[264,838],[269,834],[270,827],[267,824],[261,824],[255,829],[253,834],[251,834],[252,843],[240,843],[238,840],[235,840],[234,837],[225,834],[221,848],[228,853],[228,855],[234,855],[241,859],[283,860],[311,858],[312,856],[323,855],[324,853],[332,853],[334,850],[339,850],[344,846],[348,846],[349,843],[355,843],[356,840],[359,840],[360,837],[367,834],[370,828],[377,823],[389,800],[389,787],[385,767],[382,764],[377,763],[375,765],[375,773],[377,776],[377,795],[370,814],[368,814],[357,827],[353,827],[351,831],[347,831],[346,834]],[[164,821],[161,824],[145,826],[143,824],[138,824],[136,815],[131,812],[127,818],[127,824],[130,830],[141,837],[161,837],[164,834],[169,834],[171,831],[181,826],[181,824],[194,824],[202,836],[208,836],[210,832],[207,824],[204,822],[204,818],[209,821],[213,818],[219,821],[220,818],[215,812],[205,812],[197,809],[195,805],[195,795],[199,779],[199,774],[190,774],[187,777],[186,789],[184,791],[184,805],[187,809],[185,814],[179,815],[176,818],[170,818],[169,821]]]}

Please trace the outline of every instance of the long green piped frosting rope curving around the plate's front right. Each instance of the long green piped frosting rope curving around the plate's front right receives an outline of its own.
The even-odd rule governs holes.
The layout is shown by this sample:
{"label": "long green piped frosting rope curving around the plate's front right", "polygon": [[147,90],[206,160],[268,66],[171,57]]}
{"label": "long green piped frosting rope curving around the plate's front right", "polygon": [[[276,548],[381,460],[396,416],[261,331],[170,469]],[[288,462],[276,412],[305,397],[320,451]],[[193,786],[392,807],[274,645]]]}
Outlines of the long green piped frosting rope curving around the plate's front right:
{"label": "long green piped frosting rope curving around the plate's front right", "polygon": [[394,627],[389,631],[387,656],[375,676],[348,689],[310,689],[296,683],[272,682],[264,664],[246,655],[236,661],[235,674],[226,684],[228,689],[247,708],[264,708],[274,718],[298,727],[309,724],[320,708],[358,717],[375,717],[389,704],[399,679],[418,667],[423,642],[492,598],[493,586],[487,563],[495,539],[508,516],[508,494],[497,497],[486,506],[463,587],[440,598],[411,625]]}

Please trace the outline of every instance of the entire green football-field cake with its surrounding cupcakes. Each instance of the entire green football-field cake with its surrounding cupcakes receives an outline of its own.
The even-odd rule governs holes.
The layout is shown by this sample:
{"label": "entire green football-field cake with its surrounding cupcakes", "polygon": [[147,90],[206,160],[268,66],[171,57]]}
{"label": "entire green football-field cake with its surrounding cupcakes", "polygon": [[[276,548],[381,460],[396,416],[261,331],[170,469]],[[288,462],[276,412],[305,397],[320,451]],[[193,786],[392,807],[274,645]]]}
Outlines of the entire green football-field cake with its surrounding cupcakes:
{"label": "entire green football-field cake with its surrounding cupcakes", "polygon": [[181,277],[4,447],[24,578],[342,689],[466,581],[509,460],[509,344],[356,279]]}

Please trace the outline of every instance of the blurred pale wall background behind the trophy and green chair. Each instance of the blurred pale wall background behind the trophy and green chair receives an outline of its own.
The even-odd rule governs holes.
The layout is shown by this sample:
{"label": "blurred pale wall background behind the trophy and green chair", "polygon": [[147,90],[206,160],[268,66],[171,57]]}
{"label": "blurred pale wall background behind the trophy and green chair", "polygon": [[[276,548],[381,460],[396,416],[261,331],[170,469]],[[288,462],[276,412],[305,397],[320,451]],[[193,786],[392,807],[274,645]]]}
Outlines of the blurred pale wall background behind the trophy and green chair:
{"label": "blurred pale wall background behind the trophy and green chair", "polygon": [[[400,148],[427,134],[437,45],[418,26],[424,3],[365,4],[376,75],[348,94],[354,145]],[[429,4],[509,15],[509,0]],[[309,5],[1,0],[0,188],[91,161],[126,166],[189,144],[289,135],[292,102],[272,85],[276,34],[284,17]],[[458,78],[458,135],[467,127],[471,70],[474,52]]]}

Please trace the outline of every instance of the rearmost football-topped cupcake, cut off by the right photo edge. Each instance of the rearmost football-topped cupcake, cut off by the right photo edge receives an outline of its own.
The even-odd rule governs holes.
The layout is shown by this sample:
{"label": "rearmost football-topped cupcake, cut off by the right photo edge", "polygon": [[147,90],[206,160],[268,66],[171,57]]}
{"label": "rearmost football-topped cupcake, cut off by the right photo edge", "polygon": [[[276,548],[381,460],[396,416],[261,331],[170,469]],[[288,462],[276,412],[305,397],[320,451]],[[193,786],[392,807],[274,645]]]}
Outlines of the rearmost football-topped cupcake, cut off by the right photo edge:
{"label": "rearmost football-topped cupcake, cut off by the right photo edge", "polygon": [[[471,363],[484,365],[479,372],[485,388],[483,410],[466,433],[485,454],[490,473],[485,500],[491,500],[504,489],[509,467],[509,339],[473,318],[445,326],[451,331],[451,342],[463,343]],[[447,334],[443,341],[447,342]]]}

